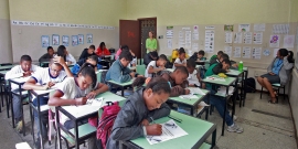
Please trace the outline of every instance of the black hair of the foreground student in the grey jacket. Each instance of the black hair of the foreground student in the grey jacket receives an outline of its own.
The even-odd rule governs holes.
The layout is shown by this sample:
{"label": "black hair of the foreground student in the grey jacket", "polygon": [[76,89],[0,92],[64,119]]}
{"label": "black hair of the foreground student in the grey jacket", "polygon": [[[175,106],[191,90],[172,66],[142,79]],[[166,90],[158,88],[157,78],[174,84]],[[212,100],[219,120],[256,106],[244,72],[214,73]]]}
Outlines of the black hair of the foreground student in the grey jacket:
{"label": "black hair of the foreground student in the grey jacket", "polygon": [[[145,84],[145,82],[146,82],[146,77],[137,77],[134,81],[132,86],[141,87]],[[146,85],[145,89],[152,89],[152,92],[157,94],[160,94],[160,93],[171,94],[171,87],[168,81],[161,76],[152,77],[150,82]]]}

